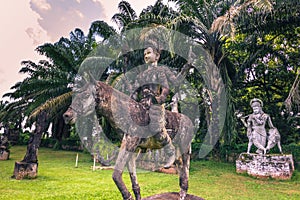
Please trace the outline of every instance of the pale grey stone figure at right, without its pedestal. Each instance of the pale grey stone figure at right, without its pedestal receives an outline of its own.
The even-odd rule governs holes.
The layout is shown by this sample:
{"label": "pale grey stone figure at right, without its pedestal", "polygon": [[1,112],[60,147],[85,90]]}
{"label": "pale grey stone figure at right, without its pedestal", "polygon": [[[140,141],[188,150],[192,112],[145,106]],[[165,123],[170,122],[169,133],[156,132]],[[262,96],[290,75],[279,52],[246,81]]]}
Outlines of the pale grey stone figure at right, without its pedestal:
{"label": "pale grey stone figure at right, without its pedestal", "polygon": [[[249,138],[247,153],[250,153],[252,144],[258,148],[256,151],[258,154],[266,154],[268,150],[277,144],[278,149],[282,154],[280,134],[277,128],[274,127],[271,117],[263,112],[263,102],[260,99],[254,98],[250,101],[250,106],[253,109],[253,113],[248,116],[241,117],[243,124],[247,127],[247,136]],[[246,118],[248,119],[246,120]],[[270,128],[268,135],[265,128],[266,123],[268,123]]]}

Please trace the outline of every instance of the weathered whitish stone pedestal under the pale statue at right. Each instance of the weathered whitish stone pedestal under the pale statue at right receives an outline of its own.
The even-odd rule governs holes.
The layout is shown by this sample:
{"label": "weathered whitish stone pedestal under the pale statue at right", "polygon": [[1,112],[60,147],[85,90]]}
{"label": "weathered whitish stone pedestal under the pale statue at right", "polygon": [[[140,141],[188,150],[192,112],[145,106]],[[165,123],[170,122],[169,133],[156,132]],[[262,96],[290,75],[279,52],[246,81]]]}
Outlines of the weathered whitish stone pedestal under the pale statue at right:
{"label": "weathered whitish stone pedestal under the pale statue at right", "polygon": [[292,177],[294,169],[291,154],[260,155],[241,153],[236,160],[237,173],[247,173],[257,178],[288,180]]}

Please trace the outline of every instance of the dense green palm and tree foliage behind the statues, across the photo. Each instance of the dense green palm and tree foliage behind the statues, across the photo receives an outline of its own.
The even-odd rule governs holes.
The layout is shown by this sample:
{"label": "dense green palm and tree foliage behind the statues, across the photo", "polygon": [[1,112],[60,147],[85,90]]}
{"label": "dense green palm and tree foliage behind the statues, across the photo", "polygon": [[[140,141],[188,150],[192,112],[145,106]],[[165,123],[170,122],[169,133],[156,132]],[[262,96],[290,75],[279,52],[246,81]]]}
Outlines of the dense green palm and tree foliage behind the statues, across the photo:
{"label": "dense green palm and tree foliage behind the statues, across the photo", "polygon": [[[28,77],[12,87],[14,92],[5,95],[11,98],[11,102],[1,102],[2,124],[22,132],[22,121],[27,120],[28,126],[31,126],[39,113],[46,111],[48,126],[52,124],[51,137],[59,142],[70,137],[70,127],[63,123],[62,113],[70,105],[74,78],[82,61],[112,35],[122,36],[126,30],[133,28],[164,26],[184,33],[202,45],[211,55],[225,83],[228,98],[225,125],[220,138],[211,135],[211,140],[217,140],[214,155],[225,158],[225,154],[247,143],[245,127],[237,114],[250,114],[249,102],[254,97],[263,100],[264,111],[271,115],[279,129],[282,143],[299,145],[299,102],[288,102],[292,106],[286,107],[285,101],[299,75],[298,0],[170,2],[176,5],[176,9],[158,0],[137,16],[128,2],[121,1],[119,12],[113,16],[118,31],[103,21],[96,21],[86,36],[76,29],[70,33],[69,39],[61,38],[54,44],[37,47],[37,51],[47,59],[39,63],[22,62],[20,72]],[[164,52],[160,62],[179,71],[186,61],[170,59],[168,52]],[[110,72],[114,73],[107,71],[102,78],[114,84],[122,73],[140,63],[140,51],[125,53],[110,65]],[[207,133],[211,109],[209,91],[199,72],[190,74],[187,79],[199,93],[197,101],[201,118],[193,144],[197,149]],[[299,96],[299,87],[294,84],[293,88],[297,89],[293,95]],[[110,131],[109,134],[115,134],[105,124],[105,119],[101,119],[101,123],[106,131]],[[21,136],[26,138],[24,134]]]}

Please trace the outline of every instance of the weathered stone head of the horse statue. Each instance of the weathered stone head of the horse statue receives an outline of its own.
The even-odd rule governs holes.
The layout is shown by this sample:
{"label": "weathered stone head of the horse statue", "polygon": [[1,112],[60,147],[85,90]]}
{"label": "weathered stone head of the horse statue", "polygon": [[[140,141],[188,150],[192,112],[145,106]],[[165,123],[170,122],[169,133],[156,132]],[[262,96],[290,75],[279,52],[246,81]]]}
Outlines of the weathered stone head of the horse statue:
{"label": "weathered stone head of the horse statue", "polygon": [[63,114],[66,124],[74,124],[78,116],[87,116],[95,109],[95,85],[86,83],[83,87],[73,89],[72,104]]}

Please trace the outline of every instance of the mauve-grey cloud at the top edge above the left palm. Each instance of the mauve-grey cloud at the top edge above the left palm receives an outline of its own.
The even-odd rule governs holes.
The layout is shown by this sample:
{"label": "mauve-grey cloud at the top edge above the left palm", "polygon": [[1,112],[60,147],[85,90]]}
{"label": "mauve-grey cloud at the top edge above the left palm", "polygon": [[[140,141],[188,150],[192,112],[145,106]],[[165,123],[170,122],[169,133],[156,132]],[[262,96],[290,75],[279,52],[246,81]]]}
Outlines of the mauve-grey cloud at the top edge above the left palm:
{"label": "mauve-grey cloud at the top edge above the left palm", "polygon": [[31,9],[41,17],[38,23],[52,41],[69,37],[69,33],[75,28],[80,28],[87,34],[91,23],[104,17],[104,9],[99,1],[47,0],[51,7],[47,12],[40,10],[35,1],[37,0],[30,1]]}

